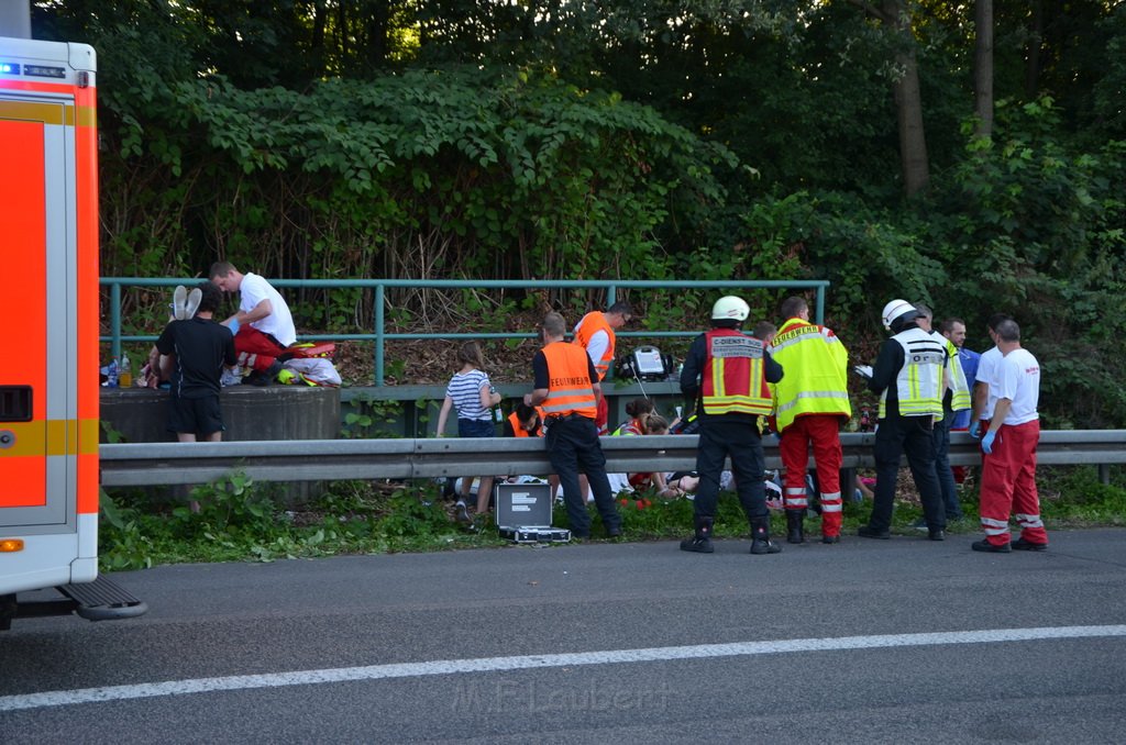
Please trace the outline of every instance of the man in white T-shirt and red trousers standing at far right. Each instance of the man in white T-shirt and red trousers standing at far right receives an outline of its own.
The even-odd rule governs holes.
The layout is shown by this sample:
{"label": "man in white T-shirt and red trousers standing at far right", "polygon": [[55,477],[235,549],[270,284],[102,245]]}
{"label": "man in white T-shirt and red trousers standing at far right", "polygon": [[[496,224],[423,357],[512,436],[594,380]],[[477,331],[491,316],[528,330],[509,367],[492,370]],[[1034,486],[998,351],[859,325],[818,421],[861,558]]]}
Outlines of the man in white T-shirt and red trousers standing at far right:
{"label": "man in white T-shirt and red trousers standing at far right", "polygon": [[[989,429],[982,436],[981,521],[985,538],[975,551],[1008,554],[1013,549],[1043,551],[1048,535],[1040,519],[1036,491],[1036,445],[1040,438],[1036,411],[1040,366],[1020,345],[1020,326],[1002,321],[994,330],[1002,359],[993,371],[988,405]],[[1020,524],[1020,538],[1010,541],[1009,517]]]}

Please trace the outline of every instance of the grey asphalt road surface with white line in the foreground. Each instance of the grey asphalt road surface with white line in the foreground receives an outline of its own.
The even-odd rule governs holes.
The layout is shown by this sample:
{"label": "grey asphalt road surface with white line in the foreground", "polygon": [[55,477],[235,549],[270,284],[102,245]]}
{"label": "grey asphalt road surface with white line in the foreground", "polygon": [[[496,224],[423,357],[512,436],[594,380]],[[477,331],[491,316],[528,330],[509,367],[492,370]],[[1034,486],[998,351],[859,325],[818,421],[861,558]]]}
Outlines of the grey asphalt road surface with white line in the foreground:
{"label": "grey asphalt road surface with white line in the foreground", "polygon": [[115,575],[146,616],[0,634],[0,742],[1126,742],[1126,530],[976,538]]}

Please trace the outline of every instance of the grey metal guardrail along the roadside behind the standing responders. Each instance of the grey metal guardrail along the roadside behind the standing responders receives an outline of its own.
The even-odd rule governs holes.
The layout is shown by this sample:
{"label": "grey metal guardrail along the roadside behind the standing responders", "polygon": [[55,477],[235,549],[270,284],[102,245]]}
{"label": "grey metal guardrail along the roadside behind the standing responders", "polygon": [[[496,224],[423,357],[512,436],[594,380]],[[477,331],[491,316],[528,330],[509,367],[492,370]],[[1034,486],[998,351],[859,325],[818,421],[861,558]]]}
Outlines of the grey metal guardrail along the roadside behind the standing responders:
{"label": "grey metal guardrail along the roadside behind the standing responders", "polygon": [[[607,470],[690,470],[696,465],[695,434],[605,437]],[[841,436],[844,468],[875,465],[873,433]],[[768,468],[778,468],[778,443],[763,443]],[[977,440],[950,437],[950,463],[981,463]],[[535,438],[415,440],[270,440],[254,442],[153,442],[102,445],[104,486],[198,484],[241,470],[262,482],[411,479],[441,476],[547,474],[544,441]],[[1126,463],[1126,430],[1040,432],[1038,463],[1098,465]],[[811,461],[812,465],[812,461]],[[1103,476],[1106,481],[1106,476]]]}

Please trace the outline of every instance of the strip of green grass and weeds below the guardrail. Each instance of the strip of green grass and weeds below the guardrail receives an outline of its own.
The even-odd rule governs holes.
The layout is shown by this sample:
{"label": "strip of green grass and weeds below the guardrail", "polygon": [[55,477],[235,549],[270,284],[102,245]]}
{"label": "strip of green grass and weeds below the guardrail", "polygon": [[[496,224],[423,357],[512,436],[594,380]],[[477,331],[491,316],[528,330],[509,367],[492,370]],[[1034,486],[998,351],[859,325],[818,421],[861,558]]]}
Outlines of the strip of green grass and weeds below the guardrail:
{"label": "strip of green grass and weeds below the guardrail", "polygon": [[[1042,468],[1037,474],[1040,508],[1048,530],[1126,526],[1126,469],[1111,469],[1111,483],[1101,484],[1094,467]],[[271,562],[284,558],[341,554],[436,551],[507,546],[495,529],[468,531],[452,519],[437,484],[410,486],[336,482],[301,509],[279,506],[271,485],[235,474],[193,490],[198,511],[176,504],[151,491],[115,490],[102,495],[100,533],[104,571],[136,569],[160,564],[199,562]],[[977,493],[962,494],[966,519],[948,527],[951,533],[976,533]],[[619,500],[626,540],[679,539],[691,532],[688,500]],[[870,503],[846,501],[843,535],[855,535]],[[905,493],[896,501],[893,533],[918,535],[922,511]],[[605,535],[591,508],[592,533]],[[556,506],[554,524],[566,527],[566,513]],[[807,539],[820,535],[820,521],[805,521]],[[749,527],[739,500],[720,495],[715,535],[747,538]],[[771,533],[785,535],[785,517],[771,511]]]}

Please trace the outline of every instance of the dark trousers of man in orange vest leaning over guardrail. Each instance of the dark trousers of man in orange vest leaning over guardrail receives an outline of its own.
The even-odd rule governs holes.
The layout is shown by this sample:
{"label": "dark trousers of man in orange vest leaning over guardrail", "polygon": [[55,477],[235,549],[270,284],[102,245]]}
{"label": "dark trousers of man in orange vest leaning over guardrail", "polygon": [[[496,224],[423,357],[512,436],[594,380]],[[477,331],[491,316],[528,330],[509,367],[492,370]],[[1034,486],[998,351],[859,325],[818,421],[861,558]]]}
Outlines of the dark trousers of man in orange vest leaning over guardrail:
{"label": "dark trousers of man in orange vest leaning over guardrail", "polygon": [[590,536],[590,513],[587,512],[587,495],[579,491],[579,472],[587,474],[590,491],[595,494],[595,505],[602,517],[607,530],[618,530],[622,517],[618,514],[610,482],[606,477],[606,456],[598,441],[598,430],[593,420],[586,418],[554,421],[544,436],[547,459],[560,477],[566,517],[571,533],[575,538]]}

